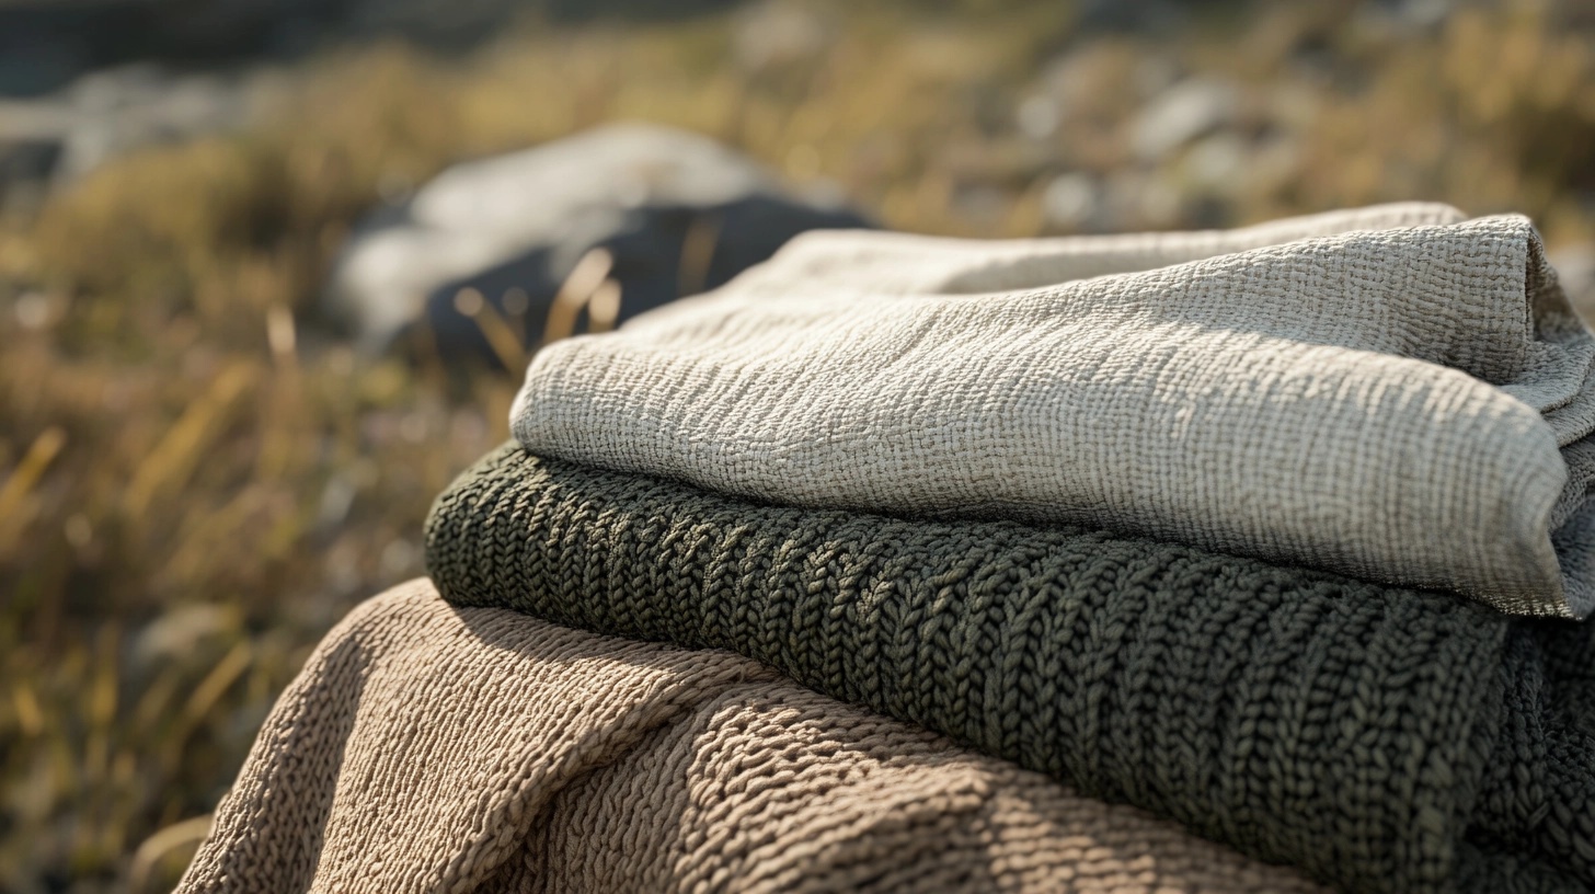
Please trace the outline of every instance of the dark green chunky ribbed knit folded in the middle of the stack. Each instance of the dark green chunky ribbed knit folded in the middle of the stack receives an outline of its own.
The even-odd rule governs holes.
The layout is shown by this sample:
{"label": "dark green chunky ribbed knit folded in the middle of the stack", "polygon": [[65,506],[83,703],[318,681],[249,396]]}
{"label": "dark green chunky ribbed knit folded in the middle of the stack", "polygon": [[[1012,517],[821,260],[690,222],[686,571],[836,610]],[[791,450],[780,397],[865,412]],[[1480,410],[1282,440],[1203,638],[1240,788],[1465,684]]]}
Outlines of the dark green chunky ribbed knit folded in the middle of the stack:
{"label": "dark green chunky ribbed knit folded in the middle of the stack", "polygon": [[1101,532],[766,506],[509,444],[439,496],[458,605],[729,648],[1369,891],[1595,883],[1589,629]]}

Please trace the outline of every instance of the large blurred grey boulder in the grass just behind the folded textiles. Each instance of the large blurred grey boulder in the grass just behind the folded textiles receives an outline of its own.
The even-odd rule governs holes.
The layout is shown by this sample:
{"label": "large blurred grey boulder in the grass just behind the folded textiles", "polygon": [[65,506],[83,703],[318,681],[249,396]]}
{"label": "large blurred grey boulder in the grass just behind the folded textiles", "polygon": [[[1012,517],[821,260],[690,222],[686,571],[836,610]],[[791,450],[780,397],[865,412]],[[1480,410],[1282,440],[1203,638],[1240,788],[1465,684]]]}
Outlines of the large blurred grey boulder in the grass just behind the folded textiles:
{"label": "large blurred grey boulder in the grass just behind the folded textiles", "polygon": [[[459,164],[402,208],[373,212],[340,257],[325,307],[367,351],[404,340],[448,362],[514,366],[544,338],[555,295],[584,259],[576,307],[609,279],[622,322],[729,281],[804,230],[868,225],[783,192],[707,137],[609,125]],[[582,311],[566,322],[579,332],[587,321]],[[571,327],[561,329],[553,335]]]}

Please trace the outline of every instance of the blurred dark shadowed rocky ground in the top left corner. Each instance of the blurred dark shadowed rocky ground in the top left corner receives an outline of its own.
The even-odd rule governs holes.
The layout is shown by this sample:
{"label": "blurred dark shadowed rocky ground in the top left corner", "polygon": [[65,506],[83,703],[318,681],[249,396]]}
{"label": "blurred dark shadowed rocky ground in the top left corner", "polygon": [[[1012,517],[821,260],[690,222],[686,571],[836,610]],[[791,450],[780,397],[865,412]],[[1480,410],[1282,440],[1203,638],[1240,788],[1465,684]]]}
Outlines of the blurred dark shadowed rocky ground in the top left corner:
{"label": "blurred dark shadowed rocky ground in the top left corner", "polygon": [[678,18],[731,0],[0,0],[0,211],[158,142],[258,120],[295,61],[404,40],[464,53],[507,24]]}

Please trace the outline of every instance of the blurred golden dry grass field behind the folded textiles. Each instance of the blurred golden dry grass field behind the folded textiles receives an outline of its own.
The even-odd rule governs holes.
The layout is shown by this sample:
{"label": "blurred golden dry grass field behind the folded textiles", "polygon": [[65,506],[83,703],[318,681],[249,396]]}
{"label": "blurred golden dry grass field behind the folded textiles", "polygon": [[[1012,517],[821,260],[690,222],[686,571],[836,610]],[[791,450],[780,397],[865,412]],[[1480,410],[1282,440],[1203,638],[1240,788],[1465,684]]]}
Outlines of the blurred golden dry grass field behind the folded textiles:
{"label": "blurred golden dry grass field behind the folded textiles", "polygon": [[325,53],[244,133],[0,222],[0,889],[169,888],[311,645],[421,573],[429,501],[507,436],[512,378],[313,324],[351,222],[451,161],[651,120],[893,228],[1069,231],[1048,188],[1129,164],[1174,70],[1239,85],[1236,128],[1279,148],[1161,164],[1124,225],[1434,198],[1595,239],[1595,22],[1557,6],[1415,29],[1207,3],[1177,34],[1088,34],[1067,3],[798,6],[818,37],[756,57],[737,10]]}

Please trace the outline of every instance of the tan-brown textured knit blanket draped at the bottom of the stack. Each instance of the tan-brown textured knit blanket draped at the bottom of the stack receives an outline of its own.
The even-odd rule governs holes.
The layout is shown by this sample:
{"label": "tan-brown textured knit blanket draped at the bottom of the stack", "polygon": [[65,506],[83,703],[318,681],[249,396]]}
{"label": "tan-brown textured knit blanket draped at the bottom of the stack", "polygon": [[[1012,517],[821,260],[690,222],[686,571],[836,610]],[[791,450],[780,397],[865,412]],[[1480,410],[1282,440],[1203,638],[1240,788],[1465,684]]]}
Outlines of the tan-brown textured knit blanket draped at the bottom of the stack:
{"label": "tan-brown textured knit blanket draped at the bottom of the stack", "polygon": [[426,581],[266,718],[179,891],[1319,891],[727,651]]}

